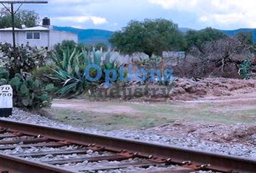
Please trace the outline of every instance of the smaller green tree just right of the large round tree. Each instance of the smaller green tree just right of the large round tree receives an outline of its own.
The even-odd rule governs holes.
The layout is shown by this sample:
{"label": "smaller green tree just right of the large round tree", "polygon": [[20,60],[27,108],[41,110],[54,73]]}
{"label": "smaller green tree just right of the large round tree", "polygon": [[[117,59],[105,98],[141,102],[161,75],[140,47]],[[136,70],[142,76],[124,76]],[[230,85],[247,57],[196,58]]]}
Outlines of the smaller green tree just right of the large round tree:
{"label": "smaller green tree just right of the large round tree", "polygon": [[200,49],[202,48],[202,45],[204,45],[207,42],[225,39],[228,36],[223,34],[220,30],[207,27],[204,30],[200,31],[189,30],[185,37],[188,49],[193,46]]}

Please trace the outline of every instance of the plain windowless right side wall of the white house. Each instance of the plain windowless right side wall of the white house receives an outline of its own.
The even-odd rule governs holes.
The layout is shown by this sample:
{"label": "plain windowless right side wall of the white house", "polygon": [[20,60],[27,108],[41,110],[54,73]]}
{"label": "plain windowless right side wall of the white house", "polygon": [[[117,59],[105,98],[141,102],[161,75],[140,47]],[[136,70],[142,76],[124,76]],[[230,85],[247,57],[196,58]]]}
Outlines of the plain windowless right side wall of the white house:
{"label": "plain windowless right side wall of the white house", "polygon": [[55,30],[50,30],[50,47],[61,43],[64,40],[73,40],[75,43],[78,42],[77,35],[74,35],[69,32],[59,32]]}

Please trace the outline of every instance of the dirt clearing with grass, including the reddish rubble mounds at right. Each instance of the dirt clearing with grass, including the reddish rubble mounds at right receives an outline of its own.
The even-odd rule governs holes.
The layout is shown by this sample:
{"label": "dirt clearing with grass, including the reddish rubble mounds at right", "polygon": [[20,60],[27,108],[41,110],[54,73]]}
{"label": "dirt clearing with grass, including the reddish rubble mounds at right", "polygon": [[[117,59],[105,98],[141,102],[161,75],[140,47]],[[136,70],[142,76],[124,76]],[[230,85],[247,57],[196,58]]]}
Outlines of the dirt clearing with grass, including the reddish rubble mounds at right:
{"label": "dirt clearing with grass, including the reddish rubble mounds at right", "polygon": [[[51,109],[46,111],[54,120],[84,128],[146,129],[177,138],[190,135],[218,143],[256,146],[256,82],[231,79],[231,84],[226,84],[224,79],[205,80],[184,85],[182,89],[189,88],[184,93],[185,100],[185,97],[168,102],[55,99]],[[186,82],[181,81],[179,87]],[[191,92],[194,87],[198,90]],[[203,97],[198,94],[202,88],[208,91]],[[195,93],[197,98],[192,99]]]}

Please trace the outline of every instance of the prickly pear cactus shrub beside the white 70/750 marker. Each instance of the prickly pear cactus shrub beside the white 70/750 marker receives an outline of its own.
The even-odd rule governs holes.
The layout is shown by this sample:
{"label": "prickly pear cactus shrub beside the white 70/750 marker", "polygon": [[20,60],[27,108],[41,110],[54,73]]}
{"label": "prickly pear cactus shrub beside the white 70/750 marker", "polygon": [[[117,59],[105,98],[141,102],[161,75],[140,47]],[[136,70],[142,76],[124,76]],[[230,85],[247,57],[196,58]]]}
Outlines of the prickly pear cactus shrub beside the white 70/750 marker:
{"label": "prickly pear cactus shrub beside the white 70/750 marker", "polygon": [[46,86],[39,80],[42,71],[46,71],[41,66],[46,66],[47,50],[29,46],[17,46],[14,50],[12,45],[4,44],[0,45],[0,52],[0,85],[12,86],[14,107],[37,110],[51,105],[48,93],[54,91],[54,85]]}

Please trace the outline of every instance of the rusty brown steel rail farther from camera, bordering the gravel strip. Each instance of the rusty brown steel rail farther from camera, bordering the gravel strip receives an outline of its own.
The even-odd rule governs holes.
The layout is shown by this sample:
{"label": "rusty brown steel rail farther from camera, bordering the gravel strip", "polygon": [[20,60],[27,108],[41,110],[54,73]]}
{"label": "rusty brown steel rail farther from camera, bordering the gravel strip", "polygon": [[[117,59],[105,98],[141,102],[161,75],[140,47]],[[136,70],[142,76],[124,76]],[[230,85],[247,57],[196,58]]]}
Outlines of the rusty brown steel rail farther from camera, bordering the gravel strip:
{"label": "rusty brown steel rail farther from camera, bordering the gravel strip", "polygon": [[[42,125],[33,125],[20,123],[10,120],[0,120],[1,128],[8,128],[20,133],[32,136],[38,134],[45,138],[59,141],[68,141],[70,143],[103,147],[109,151],[129,151],[138,153],[138,156],[165,158],[171,161],[171,164],[191,165],[213,170],[218,172],[255,172],[256,160],[230,156],[226,154],[216,154],[212,152],[196,151],[192,149],[179,148],[176,146],[163,146],[152,143],[145,143],[124,138],[113,138],[109,136],[100,136],[80,131],[70,131],[61,128],[51,128]],[[93,144],[93,145],[92,145]],[[1,167],[0,161],[0,167]],[[190,165],[190,166],[189,166]],[[184,165],[186,167],[186,165]],[[198,167],[197,167],[198,168]]]}

